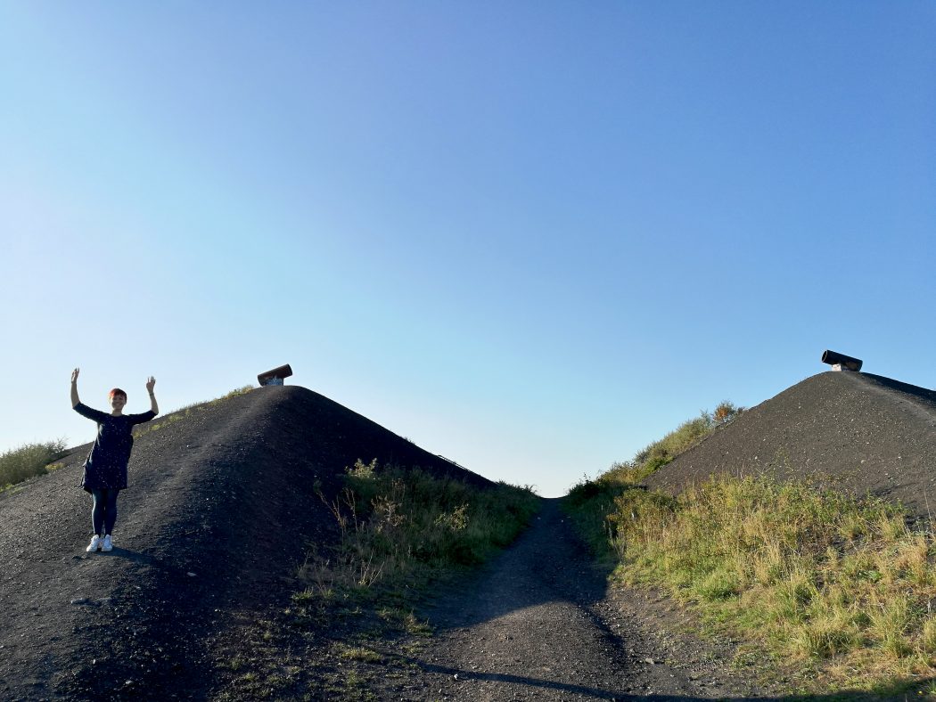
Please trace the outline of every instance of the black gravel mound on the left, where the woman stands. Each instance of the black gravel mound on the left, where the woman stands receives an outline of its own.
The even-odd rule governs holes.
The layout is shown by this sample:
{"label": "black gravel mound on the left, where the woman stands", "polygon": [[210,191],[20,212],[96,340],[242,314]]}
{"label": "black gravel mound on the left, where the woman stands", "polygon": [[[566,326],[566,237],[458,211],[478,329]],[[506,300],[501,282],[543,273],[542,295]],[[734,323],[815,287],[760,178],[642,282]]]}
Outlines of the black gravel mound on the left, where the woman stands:
{"label": "black gravel mound on the left, where the woman stands", "polygon": [[143,429],[110,553],[84,552],[90,445],[0,496],[0,698],[203,698],[215,642],[282,607],[310,544],[334,538],[316,485],[333,496],[358,458],[490,485],[298,387]]}

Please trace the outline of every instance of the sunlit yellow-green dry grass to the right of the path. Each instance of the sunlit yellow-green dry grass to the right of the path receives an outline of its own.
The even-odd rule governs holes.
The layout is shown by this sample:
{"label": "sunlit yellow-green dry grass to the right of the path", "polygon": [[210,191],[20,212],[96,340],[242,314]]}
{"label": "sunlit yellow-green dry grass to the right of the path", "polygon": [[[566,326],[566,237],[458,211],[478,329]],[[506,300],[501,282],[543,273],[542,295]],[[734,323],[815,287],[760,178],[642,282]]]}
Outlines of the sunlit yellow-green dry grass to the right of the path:
{"label": "sunlit yellow-green dry grass to the right of the path", "polygon": [[776,656],[841,683],[936,676],[936,539],[894,505],[721,477],[678,500],[628,490],[620,577],[664,585]]}

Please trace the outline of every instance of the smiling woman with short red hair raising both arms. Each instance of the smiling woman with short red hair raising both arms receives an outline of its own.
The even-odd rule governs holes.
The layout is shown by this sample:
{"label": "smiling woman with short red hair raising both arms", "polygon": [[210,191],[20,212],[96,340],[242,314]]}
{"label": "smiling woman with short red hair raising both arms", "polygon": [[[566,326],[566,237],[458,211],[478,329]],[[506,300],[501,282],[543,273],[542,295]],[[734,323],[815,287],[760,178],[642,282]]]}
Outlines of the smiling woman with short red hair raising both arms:
{"label": "smiling woman with short red hair raising both arms", "polygon": [[126,393],[121,388],[113,388],[108,395],[109,415],[81,404],[78,399],[79,370],[76,368],[71,373],[71,406],[81,417],[88,417],[97,423],[95,446],[84,461],[84,475],[81,476],[81,487],[94,498],[91,521],[95,535],[85,550],[89,553],[97,549],[109,551],[113,548],[110,533],[117,520],[117,495],[126,488],[126,465],[133,448],[133,428],[159,414],[153,393],[156,379],[151,376],[146,381],[146,390],[150,393],[149,412],[124,415]]}

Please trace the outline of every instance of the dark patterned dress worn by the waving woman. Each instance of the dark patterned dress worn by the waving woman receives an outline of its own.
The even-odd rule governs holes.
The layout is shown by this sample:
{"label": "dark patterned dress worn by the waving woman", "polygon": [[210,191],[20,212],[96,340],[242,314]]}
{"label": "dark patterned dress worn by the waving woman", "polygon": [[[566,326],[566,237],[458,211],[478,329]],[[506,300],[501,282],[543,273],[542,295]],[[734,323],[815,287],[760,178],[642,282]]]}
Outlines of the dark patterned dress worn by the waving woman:
{"label": "dark patterned dress worn by the waving woman", "polygon": [[155,417],[153,411],[114,417],[81,402],[75,405],[75,411],[81,417],[97,422],[97,438],[87,461],[84,461],[81,487],[88,492],[124,490],[126,464],[130,461],[130,451],[133,449],[133,428]]}

